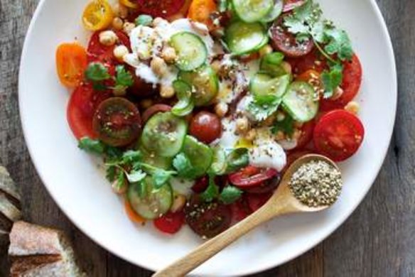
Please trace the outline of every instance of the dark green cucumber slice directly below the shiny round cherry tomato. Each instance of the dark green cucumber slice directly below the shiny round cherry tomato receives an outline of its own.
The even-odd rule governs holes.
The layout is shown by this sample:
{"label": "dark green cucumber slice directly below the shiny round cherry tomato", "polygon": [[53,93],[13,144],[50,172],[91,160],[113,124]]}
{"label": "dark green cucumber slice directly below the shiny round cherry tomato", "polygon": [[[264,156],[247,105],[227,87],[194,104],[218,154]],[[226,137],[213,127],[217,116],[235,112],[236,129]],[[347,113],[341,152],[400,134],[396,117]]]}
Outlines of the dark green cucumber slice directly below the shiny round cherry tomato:
{"label": "dark green cucumber slice directly below the shiny round cherry tomato", "polygon": [[186,136],[182,151],[193,165],[194,178],[205,175],[212,164],[212,149],[205,143],[201,143],[195,139],[193,136]]}

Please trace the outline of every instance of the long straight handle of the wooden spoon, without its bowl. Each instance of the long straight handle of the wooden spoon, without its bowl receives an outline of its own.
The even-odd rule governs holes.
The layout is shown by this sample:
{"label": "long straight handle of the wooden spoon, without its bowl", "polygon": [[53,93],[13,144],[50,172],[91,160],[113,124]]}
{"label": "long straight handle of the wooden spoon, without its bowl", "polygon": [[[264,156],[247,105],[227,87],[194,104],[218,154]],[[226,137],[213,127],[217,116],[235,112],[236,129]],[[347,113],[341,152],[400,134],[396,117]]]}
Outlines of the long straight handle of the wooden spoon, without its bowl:
{"label": "long straight handle of the wooden spoon, without its bowl", "polygon": [[187,256],[184,256],[182,259],[176,261],[161,271],[156,272],[153,277],[185,276],[185,274],[189,273],[194,268],[197,268],[200,264],[203,264],[205,261],[212,258],[212,256],[215,256],[215,254],[224,249],[226,246],[232,244],[232,242],[239,239],[239,237],[247,234],[247,232],[251,231],[259,224],[275,217],[276,213],[271,212],[270,209],[265,206],[244,219],[242,222],[239,222],[230,229],[227,229],[227,231],[222,234],[206,241],[197,249],[190,252]]}

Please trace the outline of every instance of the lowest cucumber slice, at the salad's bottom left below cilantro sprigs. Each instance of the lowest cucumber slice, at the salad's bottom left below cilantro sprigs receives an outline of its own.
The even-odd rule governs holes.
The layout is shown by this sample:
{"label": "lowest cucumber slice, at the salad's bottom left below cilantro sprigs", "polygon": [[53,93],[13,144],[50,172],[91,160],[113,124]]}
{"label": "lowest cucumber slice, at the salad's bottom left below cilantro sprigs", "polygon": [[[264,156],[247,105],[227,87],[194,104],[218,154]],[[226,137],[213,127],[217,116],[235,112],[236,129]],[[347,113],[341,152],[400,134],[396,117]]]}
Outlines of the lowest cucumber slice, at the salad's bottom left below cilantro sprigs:
{"label": "lowest cucumber slice, at the salad's bottom left below cilantro sprigs", "polygon": [[156,219],[170,210],[173,190],[169,183],[156,188],[153,178],[147,176],[140,183],[129,185],[127,197],[137,214],[145,219]]}

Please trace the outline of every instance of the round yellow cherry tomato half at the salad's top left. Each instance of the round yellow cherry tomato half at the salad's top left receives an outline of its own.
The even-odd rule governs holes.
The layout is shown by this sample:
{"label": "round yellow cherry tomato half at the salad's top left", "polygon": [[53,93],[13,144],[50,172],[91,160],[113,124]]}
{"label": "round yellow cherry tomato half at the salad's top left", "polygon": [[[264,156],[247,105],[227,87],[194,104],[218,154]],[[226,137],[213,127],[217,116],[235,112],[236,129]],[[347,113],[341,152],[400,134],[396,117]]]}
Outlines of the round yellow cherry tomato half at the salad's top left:
{"label": "round yellow cherry tomato half at the salad's top left", "polygon": [[107,0],[93,0],[88,4],[82,15],[85,28],[99,31],[107,28],[114,19],[114,12]]}

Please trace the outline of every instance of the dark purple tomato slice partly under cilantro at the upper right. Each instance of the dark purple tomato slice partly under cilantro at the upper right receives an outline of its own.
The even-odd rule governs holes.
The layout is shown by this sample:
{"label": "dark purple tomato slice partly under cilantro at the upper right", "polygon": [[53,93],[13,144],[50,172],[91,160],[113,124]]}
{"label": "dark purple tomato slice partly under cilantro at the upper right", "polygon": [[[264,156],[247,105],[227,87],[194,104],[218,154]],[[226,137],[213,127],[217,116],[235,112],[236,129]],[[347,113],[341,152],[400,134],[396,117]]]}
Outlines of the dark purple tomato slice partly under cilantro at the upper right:
{"label": "dark purple tomato slice partly under cilantro at the upper right", "polygon": [[282,25],[283,19],[275,21],[269,29],[272,46],[284,53],[287,57],[298,58],[307,55],[314,48],[313,40],[298,41]]}

